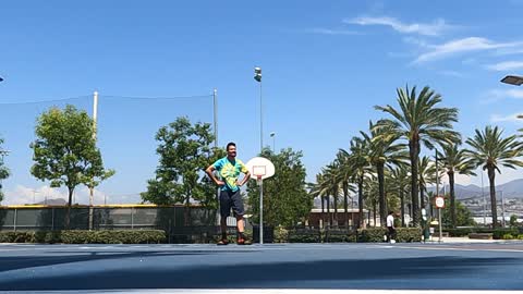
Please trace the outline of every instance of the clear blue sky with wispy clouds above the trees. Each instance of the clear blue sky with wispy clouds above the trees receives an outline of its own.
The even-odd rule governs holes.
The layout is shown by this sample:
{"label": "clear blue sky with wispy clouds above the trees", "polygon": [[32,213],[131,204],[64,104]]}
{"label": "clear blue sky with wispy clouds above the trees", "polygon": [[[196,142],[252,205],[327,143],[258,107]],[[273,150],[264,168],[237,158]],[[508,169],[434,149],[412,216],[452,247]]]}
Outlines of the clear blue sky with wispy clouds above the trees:
{"label": "clear blue sky with wispy clouds above the trees", "polygon": [[[428,85],[460,109],[463,136],[496,124],[521,127],[522,88],[499,83],[523,73],[523,1],[16,1],[0,9],[0,102],[78,97],[89,111],[100,93],[100,148],[117,175],[96,201],[139,200],[157,163],[154,132],[185,114],[212,122],[245,161],[259,149],[264,74],[265,142],[303,150],[308,180],[338,148],[384,117],[396,88]],[[121,97],[143,97],[131,100]],[[51,102],[2,105],[0,134],[13,175],[4,204],[59,197],[28,174],[34,120]],[[503,171],[498,182],[522,177]],[[460,177],[481,184],[479,177]],[[80,188],[78,201],[86,203]]]}

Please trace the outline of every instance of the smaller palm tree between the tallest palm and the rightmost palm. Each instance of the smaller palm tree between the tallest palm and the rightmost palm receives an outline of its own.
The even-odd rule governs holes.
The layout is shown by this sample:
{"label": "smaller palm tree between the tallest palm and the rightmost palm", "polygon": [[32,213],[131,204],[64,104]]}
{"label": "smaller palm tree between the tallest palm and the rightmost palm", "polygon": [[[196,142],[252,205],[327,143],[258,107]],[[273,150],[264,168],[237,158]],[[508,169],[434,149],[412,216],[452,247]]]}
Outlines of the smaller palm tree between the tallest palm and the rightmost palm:
{"label": "smaller palm tree between the tallest palm and the rightmost palm", "polygon": [[466,157],[464,149],[459,149],[459,144],[450,144],[441,146],[443,150],[442,163],[449,176],[450,184],[450,219],[452,228],[455,228],[455,194],[454,194],[454,173],[476,175],[475,167]]}

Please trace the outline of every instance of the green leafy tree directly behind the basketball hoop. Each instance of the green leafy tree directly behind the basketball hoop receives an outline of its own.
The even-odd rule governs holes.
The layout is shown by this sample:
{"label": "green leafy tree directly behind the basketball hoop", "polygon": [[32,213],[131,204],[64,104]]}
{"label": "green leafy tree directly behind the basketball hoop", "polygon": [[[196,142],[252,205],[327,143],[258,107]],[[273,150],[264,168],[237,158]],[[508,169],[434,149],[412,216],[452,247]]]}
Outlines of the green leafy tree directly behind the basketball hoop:
{"label": "green leafy tree directly behind the basketball hoop", "polygon": [[[273,154],[264,148],[262,157],[275,164],[275,175],[264,180],[264,223],[293,226],[304,222],[313,208],[314,195],[307,193],[302,151],[291,148]],[[259,222],[259,186],[247,183],[247,204],[253,221]]]}

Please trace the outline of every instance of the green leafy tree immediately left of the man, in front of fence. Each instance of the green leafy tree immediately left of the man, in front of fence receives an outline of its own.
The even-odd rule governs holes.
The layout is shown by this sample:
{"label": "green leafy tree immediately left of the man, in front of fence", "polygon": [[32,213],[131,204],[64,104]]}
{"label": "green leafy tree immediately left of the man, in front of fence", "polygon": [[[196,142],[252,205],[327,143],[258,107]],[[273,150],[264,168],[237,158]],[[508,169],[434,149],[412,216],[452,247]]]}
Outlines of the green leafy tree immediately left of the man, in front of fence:
{"label": "green leafy tree immediately left of the man, in front of fence", "polygon": [[192,124],[187,118],[178,118],[156,133],[159,142],[156,152],[159,166],[156,177],[147,181],[142,199],[157,205],[183,204],[185,222],[191,222],[191,200],[216,208],[216,186],[204,169],[222,154],[212,150],[215,137],[210,124]]}

